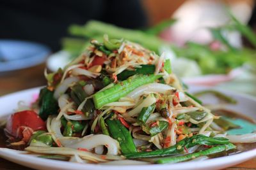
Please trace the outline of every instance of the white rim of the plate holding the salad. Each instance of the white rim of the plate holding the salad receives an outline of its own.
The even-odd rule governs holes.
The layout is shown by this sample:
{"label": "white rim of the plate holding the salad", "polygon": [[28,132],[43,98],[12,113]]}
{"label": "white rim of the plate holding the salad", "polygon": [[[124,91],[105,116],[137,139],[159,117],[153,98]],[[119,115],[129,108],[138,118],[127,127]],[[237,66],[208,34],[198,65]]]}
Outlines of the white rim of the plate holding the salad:
{"label": "white rim of the plate holding the salad", "polygon": [[[31,88],[31,89],[26,89],[26,90],[20,90],[18,92],[13,92],[11,94],[6,94],[4,96],[0,97],[0,100],[3,100],[6,97],[12,97],[15,95],[26,95],[27,93],[32,93],[32,92],[39,92],[39,89],[42,87],[35,87],[35,88]],[[192,86],[193,88],[193,86]],[[200,87],[201,88],[201,87]],[[208,88],[208,87],[206,87]],[[212,89],[212,88],[211,88]],[[214,88],[216,90],[221,90],[219,88]],[[230,93],[230,94],[235,94],[236,96],[243,96],[246,97],[250,100],[253,100],[253,102],[256,103],[256,97],[250,96],[248,94],[241,94],[241,93],[235,93],[232,90],[225,90],[225,92]],[[10,115],[6,114],[6,115]],[[6,115],[0,115],[0,117],[6,116]],[[196,164],[195,162],[191,163],[191,162],[180,162],[177,164],[150,164],[150,165],[125,165],[125,166],[113,166],[113,165],[102,165],[102,164],[77,164],[74,162],[64,162],[64,161],[58,161],[58,160],[48,160],[48,159],[42,159],[42,158],[37,158],[37,157],[33,157],[31,155],[27,155],[28,157],[25,157],[26,155],[19,155],[17,156],[17,152],[15,151],[10,151],[8,150],[6,152],[6,148],[0,148],[0,157],[3,157],[4,159],[8,159],[12,162],[15,162],[17,164],[22,164],[23,166],[28,166],[28,167],[34,167],[34,168],[40,168],[40,169],[44,169],[45,167],[51,167],[54,169],[61,169],[61,167],[65,167],[65,169],[99,169],[99,170],[103,170],[103,169],[113,169],[113,170],[117,170],[117,169],[141,169],[142,167],[148,170],[153,170],[153,169],[188,169],[188,167],[190,167],[190,169],[220,169],[220,168],[224,168],[224,167],[230,167],[233,166],[235,164],[239,164],[241,162],[244,162],[245,160],[249,160],[252,159],[253,157],[256,157],[256,148],[252,149],[252,150],[248,150],[246,152],[241,152],[241,153],[237,153],[234,155],[228,155],[227,157],[218,157],[218,158],[214,158],[214,159],[207,159],[204,160],[202,162],[204,162],[204,164],[202,164],[202,162],[200,162],[200,164]],[[6,155],[7,153],[7,155]],[[13,157],[14,156],[14,157]],[[19,162],[17,162],[19,161]],[[38,163],[39,162],[39,163]],[[218,165],[216,165],[216,162],[218,162]],[[32,165],[32,166],[31,166]],[[184,168],[186,167],[186,168]]]}

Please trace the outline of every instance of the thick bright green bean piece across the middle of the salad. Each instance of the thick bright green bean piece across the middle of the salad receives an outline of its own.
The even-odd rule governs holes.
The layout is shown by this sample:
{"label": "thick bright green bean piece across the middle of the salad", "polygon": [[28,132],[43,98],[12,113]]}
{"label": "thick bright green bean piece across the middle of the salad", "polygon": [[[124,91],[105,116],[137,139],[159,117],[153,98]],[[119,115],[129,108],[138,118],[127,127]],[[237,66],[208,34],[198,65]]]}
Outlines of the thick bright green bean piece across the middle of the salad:
{"label": "thick bright green bean piece across the middle of the salad", "polygon": [[118,101],[121,97],[126,96],[132,90],[145,85],[148,83],[153,83],[158,78],[161,78],[159,75],[150,74],[147,75],[134,75],[127,80],[124,80],[120,83],[117,83],[113,87],[106,89],[101,92],[97,92],[93,95],[93,101],[95,108],[99,109],[104,104],[108,104],[114,101]]}

